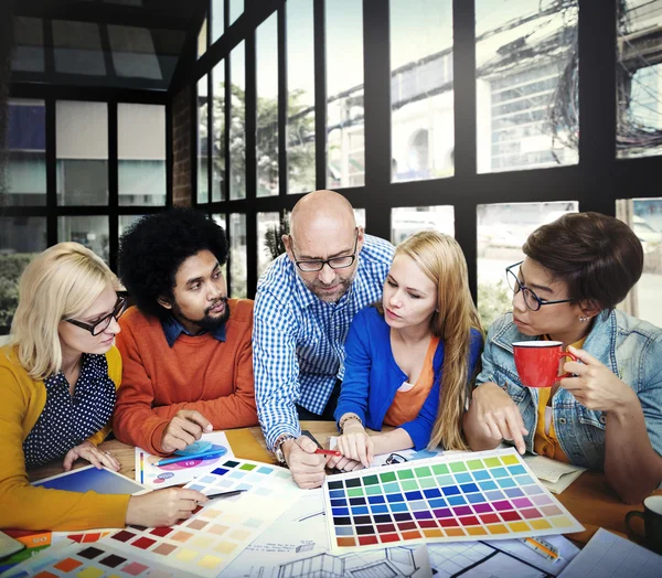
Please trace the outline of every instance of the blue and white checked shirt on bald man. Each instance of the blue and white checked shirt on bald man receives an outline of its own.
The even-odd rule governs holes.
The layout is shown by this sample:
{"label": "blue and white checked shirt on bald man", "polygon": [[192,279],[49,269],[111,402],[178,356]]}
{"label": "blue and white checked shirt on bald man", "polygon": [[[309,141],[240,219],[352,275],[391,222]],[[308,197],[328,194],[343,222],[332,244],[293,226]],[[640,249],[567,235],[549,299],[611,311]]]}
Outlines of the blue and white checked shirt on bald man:
{"label": "blue and white checked shirt on bald man", "polygon": [[301,435],[295,404],[322,414],[344,375],[344,342],[354,315],[382,298],[393,245],[365,236],[356,274],[338,303],[325,303],[280,255],[260,277],[255,298],[253,368],[257,415],[267,447]]}

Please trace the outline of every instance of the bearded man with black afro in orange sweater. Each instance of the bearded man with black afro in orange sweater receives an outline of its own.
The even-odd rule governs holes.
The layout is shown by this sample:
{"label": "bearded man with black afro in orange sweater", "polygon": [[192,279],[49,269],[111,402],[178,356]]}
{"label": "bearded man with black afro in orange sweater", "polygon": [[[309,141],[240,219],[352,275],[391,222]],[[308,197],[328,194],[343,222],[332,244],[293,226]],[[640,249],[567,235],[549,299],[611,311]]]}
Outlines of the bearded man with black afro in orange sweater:
{"label": "bearded man with black afro in orange sweater", "polygon": [[190,208],[142,217],[120,239],[137,307],[121,318],[114,431],[164,456],[205,431],[255,426],[253,301],[228,299],[225,232]]}

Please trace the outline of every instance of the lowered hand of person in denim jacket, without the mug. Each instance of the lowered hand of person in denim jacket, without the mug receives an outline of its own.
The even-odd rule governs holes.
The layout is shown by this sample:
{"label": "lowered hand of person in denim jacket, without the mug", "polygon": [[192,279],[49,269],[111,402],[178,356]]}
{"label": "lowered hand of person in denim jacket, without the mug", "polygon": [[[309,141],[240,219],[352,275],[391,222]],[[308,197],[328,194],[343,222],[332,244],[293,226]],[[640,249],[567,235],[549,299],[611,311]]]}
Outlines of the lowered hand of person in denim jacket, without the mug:
{"label": "lowered hand of person in denim jacket, without the mug", "polygon": [[528,431],[517,404],[508,393],[496,384],[487,382],[473,389],[471,405],[484,436],[499,442],[502,439],[513,440],[520,453],[526,451],[524,436]]}

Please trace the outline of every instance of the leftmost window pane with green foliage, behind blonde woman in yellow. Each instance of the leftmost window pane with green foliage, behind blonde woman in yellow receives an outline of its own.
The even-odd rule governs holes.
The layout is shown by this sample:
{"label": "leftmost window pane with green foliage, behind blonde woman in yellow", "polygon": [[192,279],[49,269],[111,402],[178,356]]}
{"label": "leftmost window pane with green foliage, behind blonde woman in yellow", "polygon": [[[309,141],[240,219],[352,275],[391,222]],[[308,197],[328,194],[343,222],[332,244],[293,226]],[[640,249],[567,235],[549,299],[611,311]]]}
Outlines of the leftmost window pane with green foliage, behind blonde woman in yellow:
{"label": "leftmost window pane with green foliage, behind blonde woman in yellow", "polygon": [[0,217],[0,333],[9,333],[23,269],[45,248],[45,217]]}

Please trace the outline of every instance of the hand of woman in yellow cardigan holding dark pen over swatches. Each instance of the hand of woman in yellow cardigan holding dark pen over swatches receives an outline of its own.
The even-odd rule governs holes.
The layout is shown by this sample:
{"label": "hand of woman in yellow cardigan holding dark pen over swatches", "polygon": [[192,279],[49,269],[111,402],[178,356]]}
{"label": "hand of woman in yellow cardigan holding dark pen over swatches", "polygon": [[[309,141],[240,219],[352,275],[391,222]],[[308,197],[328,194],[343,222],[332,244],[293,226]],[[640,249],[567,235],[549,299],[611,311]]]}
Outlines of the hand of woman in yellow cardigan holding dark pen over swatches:
{"label": "hand of woman in yellow cardigan holding dark pen over swatches", "polygon": [[179,520],[191,517],[199,504],[206,504],[207,497],[183,488],[163,488],[129,499],[126,523],[139,526],[172,526]]}

